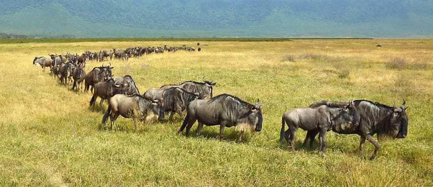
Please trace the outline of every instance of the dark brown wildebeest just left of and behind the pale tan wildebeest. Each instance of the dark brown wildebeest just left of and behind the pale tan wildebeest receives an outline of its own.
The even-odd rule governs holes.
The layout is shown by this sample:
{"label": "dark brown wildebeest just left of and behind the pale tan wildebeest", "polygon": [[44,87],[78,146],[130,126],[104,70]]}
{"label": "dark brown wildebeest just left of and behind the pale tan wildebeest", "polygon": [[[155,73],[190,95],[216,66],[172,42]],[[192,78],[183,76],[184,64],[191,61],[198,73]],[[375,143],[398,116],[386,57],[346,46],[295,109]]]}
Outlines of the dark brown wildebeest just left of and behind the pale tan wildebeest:
{"label": "dark brown wildebeest just left of and behind the pale tan wildebeest", "polygon": [[107,81],[101,81],[94,85],[94,91],[92,99],[90,100],[90,106],[92,111],[94,110],[94,103],[97,97],[101,97],[101,102],[99,102],[99,108],[102,108],[102,102],[104,99],[108,99],[110,102],[110,97],[115,94],[124,94],[124,85],[119,85],[113,79],[108,79]]}

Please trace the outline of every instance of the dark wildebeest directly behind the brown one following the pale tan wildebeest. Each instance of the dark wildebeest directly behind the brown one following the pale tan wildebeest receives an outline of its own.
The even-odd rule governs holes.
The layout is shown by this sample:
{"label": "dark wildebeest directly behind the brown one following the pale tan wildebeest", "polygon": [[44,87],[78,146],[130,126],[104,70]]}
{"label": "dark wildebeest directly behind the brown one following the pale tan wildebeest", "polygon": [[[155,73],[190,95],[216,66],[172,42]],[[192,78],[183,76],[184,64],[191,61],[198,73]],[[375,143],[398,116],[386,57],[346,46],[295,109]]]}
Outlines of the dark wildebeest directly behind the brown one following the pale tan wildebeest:
{"label": "dark wildebeest directly behind the brown one following the pale tan wildebeest", "polygon": [[94,85],[100,81],[107,80],[109,77],[111,77],[111,69],[113,68],[114,67],[111,67],[111,64],[93,67],[93,69],[84,77],[84,79],[86,80],[84,92],[88,92],[89,87],[91,87],[90,91],[93,93]]}

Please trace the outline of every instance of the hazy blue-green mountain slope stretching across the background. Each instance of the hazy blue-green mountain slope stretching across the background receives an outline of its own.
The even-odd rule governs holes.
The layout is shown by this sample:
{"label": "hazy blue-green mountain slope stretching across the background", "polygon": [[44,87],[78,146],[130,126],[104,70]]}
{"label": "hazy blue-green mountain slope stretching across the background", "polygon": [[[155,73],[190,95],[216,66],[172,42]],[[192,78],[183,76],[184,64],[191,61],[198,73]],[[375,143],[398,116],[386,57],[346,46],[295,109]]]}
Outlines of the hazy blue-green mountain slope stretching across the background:
{"label": "hazy blue-green mountain slope stretching across the background", "polygon": [[3,0],[38,37],[433,37],[433,0]]}

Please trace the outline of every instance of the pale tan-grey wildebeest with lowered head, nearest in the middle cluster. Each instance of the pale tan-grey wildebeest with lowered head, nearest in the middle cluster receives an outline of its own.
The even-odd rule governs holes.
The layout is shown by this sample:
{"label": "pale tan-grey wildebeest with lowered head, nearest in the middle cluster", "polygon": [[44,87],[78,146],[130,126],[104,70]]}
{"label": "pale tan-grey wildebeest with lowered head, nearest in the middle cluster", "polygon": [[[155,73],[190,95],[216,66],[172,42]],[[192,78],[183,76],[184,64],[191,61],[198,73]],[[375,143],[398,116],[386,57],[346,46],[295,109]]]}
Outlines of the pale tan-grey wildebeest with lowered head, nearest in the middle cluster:
{"label": "pale tan-grey wildebeest with lowered head, nearest in the middle cluster", "polygon": [[102,125],[106,124],[110,116],[111,129],[113,129],[116,119],[122,115],[124,118],[132,118],[135,129],[137,129],[137,118],[146,122],[158,118],[160,107],[160,101],[157,99],[148,101],[140,94],[116,94],[109,100],[107,111],[102,118]]}

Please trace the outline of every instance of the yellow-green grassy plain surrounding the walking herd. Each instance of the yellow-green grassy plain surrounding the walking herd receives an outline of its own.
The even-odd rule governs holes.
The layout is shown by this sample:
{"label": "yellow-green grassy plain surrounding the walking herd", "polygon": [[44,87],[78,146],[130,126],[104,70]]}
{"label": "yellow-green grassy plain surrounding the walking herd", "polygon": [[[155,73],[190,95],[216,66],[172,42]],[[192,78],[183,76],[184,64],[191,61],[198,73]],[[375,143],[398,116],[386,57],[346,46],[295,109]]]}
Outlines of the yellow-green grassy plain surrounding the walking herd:
{"label": "yellow-green grassy plain surrounding the walking herd", "polygon": [[[132,46],[192,46],[197,41],[0,44],[0,186],[432,186],[433,40],[199,41],[203,51],[111,62],[141,93],[186,80],[215,79],[214,95],[260,98],[264,123],[234,143],[237,132],[176,133],[182,119],[145,124],[119,118],[98,130],[90,94],[71,92],[31,64],[48,53]],[[381,43],[383,47],[374,47]],[[207,44],[205,46],[204,44]],[[90,62],[87,70],[100,62]],[[280,116],[322,99],[405,98],[408,136],[381,142],[375,160],[358,157],[357,135],[328,134],[326,155],[278,143]],[[99,100],[98,100],[99,101]],[[192,130],[195,130],[196,125]],[[371,154],[373,146],[366,144]]]}

